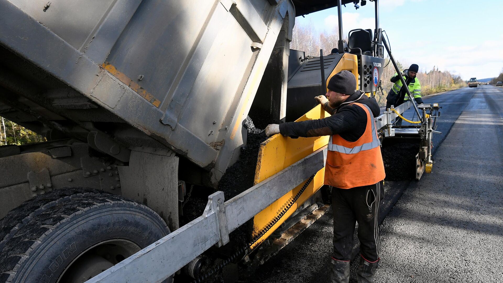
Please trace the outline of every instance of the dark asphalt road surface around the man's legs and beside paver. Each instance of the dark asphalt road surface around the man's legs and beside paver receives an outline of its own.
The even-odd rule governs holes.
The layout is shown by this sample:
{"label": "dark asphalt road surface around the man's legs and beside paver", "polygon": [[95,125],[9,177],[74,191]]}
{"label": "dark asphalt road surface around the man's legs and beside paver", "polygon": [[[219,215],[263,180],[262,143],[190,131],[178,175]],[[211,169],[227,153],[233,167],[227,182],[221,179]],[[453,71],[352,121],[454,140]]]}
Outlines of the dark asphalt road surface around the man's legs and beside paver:
{"label": "dark asphalt road surface around the man's legs and beside paver", "polygon": [[[375,282],[503,282],[503,88],[424,101],[443,107],[436,163],[419,182],[385,182]],[[329,282],[332,233],[330,211],[248,282]]]}

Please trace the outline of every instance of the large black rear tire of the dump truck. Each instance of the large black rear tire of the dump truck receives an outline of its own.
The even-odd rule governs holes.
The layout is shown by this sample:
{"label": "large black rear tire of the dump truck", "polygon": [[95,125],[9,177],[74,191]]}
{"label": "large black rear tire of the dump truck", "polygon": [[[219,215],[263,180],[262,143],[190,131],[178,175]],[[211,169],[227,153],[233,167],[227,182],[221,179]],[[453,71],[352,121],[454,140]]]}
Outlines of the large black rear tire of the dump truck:
{"label": "large black rear tire of the dump truck", "polygon": [[169,233],[135,200],[88,188],[54,190],[0,220],[0,282],[85,282]]}

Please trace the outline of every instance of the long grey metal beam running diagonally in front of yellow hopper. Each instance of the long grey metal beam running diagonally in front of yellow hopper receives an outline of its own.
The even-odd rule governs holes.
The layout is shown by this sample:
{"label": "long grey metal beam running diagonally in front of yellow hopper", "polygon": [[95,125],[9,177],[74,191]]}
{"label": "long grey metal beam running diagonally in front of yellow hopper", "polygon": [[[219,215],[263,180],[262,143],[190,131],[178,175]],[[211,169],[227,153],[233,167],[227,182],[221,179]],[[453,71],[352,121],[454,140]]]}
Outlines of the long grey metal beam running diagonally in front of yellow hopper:
{"label": "long grey metal beam running diagonally in front of yellow hopper", "polygon": [[161,282],[211,246],[228,243],[230,232],[321,170],[325,161],[326,147],[228,201],[222,191],[213,193],[202,216],[86,282]]}

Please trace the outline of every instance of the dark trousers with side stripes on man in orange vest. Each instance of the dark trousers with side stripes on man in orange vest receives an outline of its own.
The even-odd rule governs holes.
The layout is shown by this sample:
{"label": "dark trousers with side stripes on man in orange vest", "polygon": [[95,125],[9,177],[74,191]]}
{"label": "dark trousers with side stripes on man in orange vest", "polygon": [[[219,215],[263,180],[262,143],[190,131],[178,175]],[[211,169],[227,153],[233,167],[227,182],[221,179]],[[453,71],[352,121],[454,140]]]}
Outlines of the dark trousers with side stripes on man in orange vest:
{"label": "dark trousers with side stripes on man in orange vest", "polygon": [[383,198],[383,181],[351,189],[332,188],[334,259],[351,259],[356,222],[360,253],[368,261],[379,259],[378,212]]}

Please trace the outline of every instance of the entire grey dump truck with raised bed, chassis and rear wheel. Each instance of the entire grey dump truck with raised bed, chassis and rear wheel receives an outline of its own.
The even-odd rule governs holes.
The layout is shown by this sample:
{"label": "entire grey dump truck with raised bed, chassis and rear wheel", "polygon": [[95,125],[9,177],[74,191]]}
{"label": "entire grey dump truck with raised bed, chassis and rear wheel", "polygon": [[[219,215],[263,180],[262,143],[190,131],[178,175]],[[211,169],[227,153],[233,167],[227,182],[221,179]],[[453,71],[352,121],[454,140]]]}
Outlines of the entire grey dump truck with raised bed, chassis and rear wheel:
{"label": "entire grey dump truck with raised bed, chassis and rear wheel", "polygon": [[[48,139],[0,147],[0,281],[32,272],[33,253],[12,260],[19,231],[42,232],[30,251],[46,234],[74,237],[59,242],[77,251],[69,267],[111,239],[132,241],[114,242],[125,258],[178,229],[192,188],[211,192],[239,158],[250,109],[284,119],[294,22],[290,0],[0,0],[0,116]],[[109,205],[115,221],[64,233],[78,211]],[[48,253],[34,278],[73,281]]]}

